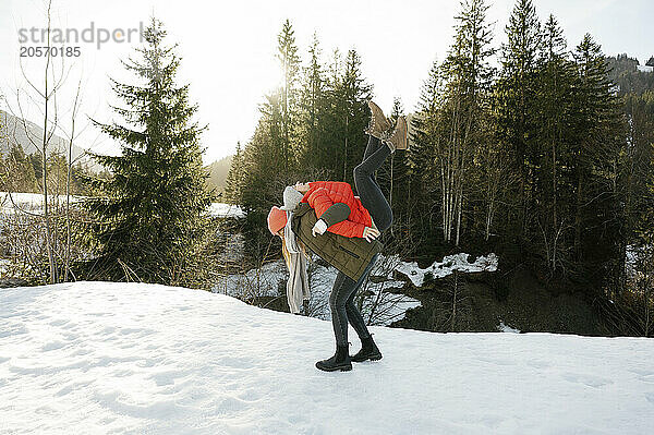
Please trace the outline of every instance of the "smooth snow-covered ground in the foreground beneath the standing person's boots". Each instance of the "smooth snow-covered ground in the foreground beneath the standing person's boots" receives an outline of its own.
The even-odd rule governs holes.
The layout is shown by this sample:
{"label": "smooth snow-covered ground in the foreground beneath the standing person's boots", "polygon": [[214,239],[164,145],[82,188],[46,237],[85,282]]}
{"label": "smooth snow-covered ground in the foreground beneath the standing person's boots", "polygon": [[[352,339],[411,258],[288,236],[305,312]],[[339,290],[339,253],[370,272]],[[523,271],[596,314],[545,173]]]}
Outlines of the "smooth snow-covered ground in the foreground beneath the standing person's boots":
{"label": "smooth snow-covered ground in the foreground beneath the standing person's boots", "polygon": [[[140,283],[0,290],[0,434],[650,434],[654,340],[331,325]],[[352,333],[353,350],[359,340]]]}

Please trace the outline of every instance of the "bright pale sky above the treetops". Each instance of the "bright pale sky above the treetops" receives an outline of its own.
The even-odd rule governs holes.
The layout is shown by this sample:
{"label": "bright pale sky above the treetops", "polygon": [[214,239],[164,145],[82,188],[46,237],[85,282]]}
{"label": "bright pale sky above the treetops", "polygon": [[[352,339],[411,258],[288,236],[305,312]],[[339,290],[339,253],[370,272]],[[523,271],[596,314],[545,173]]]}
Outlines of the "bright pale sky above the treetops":
{"label": "bright pale sky above the treetops", "polygon": [[[513,0],[489,1],[488,21],[493,24],[494,45],[505,40],[505,26]],[[627,52],[641,64],[654,55],[652,40],[654,2],[647,0],[534,0],[544,21],[553,13],[564,28],[572,49],[589,32],[606,55]],[[38,98],[32,83],[43,85],[43,58],[21,58],[21,48],[38,46],[28,38],[20,41],[20,31],[46,26],[44,0],[0,0],[0,94],[4,110],[19,112],[17,97],[25,117],[37,121]],[[154,1],[154,0],[52,0],[52,27],[76,29],[93,27],[113,32],[147,24],[154,14],[168,32],[168,43],[178,44],[182,63],[179,83],[190,84],[190,99],[198,105],[196,120],[208,124],[202,143],[205,162],[232,154],[237,142],[245,144],[254,133],[264,95],[279,82],[276,60],[277,35],[290,20],[302,59],[316,33],[328,61],[334,49],[347,52],[355,48],[362,70],[374,86],[374,98],[390,110],[399,97],[407,111],[419,100],[420,89],[434,61],[447,56],[459,1],[436,0],[330,0],[329,2],[291,1]],[[90,32],[88,33],[90,34]],[[121,67],[140,45],[132,41],[97,44],[78,41],[80,56],[58,59],[56,76],[65,81],[58,97],[61,135],[70,134],[71,108],[77,85],[82,98],[76,121],[76,142],[96,153],[114,154],[118,146],[88,119],[120,121],[110,109],[116,99],[109,77],[130,81]],[[22,67],[21,67],[22,65]],[[17,93],[16,89],[21,89]],[[32,98],[31,99],[31,95]]]}

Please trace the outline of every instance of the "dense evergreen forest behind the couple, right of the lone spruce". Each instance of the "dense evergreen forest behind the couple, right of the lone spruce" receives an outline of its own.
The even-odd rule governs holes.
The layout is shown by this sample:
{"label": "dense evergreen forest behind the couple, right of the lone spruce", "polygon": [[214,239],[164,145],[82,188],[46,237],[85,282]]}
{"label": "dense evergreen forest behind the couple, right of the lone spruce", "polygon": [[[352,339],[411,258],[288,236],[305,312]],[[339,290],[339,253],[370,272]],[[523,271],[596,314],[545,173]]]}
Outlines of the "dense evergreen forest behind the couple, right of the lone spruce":
{"label": "dense evergreen forest behind the couple, right of the lone spruce", "polygon": [[[531,0],[517,1],[497,48],[488,8],[461,2],[447,57],[425,71],[416,109],[405,113],[396,99],[389,110],[409,114],[412,131],[410,149],[378,173],[395,215],[387,250],[425,263],[494,251],[505,270],[526,265],[610,298],[643,286],[626,264],[638,252],[651,288],[654,74],[626,56],[605,57],[590,34],[568,46],[556,17],[541,22]],[[335,50],[323,61],[322,51],[314,36],[302,61],[283,24],[282,83],[237,148],[226,192],[249,212],[252,257],[269,252],[265,216],[284,185],[351,183],[363,155],[374,93],[361,56]]]}

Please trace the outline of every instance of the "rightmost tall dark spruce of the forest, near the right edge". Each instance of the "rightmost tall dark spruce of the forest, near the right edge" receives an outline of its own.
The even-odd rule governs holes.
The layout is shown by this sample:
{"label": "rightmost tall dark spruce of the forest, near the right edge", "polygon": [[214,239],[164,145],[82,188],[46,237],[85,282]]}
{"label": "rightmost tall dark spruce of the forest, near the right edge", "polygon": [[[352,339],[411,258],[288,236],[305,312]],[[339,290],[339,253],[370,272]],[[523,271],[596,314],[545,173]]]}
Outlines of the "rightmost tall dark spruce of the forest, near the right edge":
{"label": "rightmost tall dark spruce of the forest, near the right edge", "polygon": [[576,273],[603,282],[615,278],[625,258],[618,172],[626,125],[600,45],[586,34],[573,56],[579,77],[572,149]]}

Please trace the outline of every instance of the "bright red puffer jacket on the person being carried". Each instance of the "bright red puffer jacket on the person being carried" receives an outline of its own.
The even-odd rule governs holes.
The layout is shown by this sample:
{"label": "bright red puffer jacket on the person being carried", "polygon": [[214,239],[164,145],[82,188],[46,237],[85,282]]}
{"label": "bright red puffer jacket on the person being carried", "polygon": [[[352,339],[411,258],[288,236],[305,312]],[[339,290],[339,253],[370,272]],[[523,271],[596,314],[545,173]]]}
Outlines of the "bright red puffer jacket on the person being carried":
{"label": "bright red puffer jacket on the person being carried", "polygon": [[372,226],[371,214],[359,196],[354,196],[350,184],[342,181],[312,181],[308,188],[301,202],[308,203],[318,218],[334,203],[346,203],[350,207],[348,219],[332,225],[327,231],[348,238],[362,238],[363,229]]}

